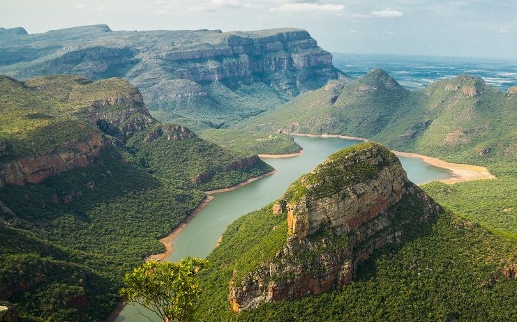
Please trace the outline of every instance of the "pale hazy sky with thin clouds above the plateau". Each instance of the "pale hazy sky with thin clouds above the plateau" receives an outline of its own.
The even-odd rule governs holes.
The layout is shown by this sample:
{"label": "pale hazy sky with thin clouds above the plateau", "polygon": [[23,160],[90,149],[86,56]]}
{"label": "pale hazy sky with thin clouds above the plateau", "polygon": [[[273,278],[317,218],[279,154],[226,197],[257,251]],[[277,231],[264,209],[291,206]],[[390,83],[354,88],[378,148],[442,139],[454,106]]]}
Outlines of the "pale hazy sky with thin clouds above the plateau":
{"label": "pale hazy sky with thin clouds above the plateau", "polygon": [[40,33],[307,29],[331,52],[517,59],[517,0],[0,0],[0,26]]}

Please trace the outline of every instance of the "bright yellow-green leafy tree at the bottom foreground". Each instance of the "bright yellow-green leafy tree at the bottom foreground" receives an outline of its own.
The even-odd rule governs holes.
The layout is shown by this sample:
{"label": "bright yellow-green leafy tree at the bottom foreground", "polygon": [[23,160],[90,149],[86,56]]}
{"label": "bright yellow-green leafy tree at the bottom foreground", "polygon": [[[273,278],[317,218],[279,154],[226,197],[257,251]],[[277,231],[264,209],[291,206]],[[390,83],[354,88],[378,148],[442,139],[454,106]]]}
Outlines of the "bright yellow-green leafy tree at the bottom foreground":
{"label": "bright yellow-green leafy tree at the bottom foreground", "polygon": [[121,296],[126,303],[140,304],[163,321],[192,321],[195,300],[201,292],[197,274],[205,266],[207,261],[192,257],[179,263],[148,261],[126,274]]}

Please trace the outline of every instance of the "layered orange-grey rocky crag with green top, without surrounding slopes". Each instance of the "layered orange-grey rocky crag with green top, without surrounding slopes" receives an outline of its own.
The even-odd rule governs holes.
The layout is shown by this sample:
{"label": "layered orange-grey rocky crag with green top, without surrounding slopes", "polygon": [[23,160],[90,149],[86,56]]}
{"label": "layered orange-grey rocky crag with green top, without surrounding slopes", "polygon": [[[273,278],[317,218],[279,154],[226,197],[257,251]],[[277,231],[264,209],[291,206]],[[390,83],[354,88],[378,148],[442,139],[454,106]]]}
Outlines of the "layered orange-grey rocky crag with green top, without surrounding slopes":
{"label": "layered orange-grey rocky crag with green top, without surrounding slopes", "polygon": [[407,180],[387,148],[365,143],[331,155],[273,206],[286,216],[285,245],[252,272],[234,271],[232,309],[318,294],[352,281],[359,263],[440,206]]}

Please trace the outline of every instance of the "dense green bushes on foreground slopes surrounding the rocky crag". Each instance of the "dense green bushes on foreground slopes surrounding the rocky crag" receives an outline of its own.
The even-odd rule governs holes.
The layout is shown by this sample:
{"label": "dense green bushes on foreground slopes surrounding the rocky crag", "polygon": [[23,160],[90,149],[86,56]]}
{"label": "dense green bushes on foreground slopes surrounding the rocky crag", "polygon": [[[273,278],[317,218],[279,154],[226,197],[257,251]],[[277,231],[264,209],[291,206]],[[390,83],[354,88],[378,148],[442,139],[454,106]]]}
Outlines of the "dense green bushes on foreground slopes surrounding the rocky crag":
{"label": "dense green bushes on foreground slopes surrounding the rocky crag", "polygon": [[[248,216],[253,215],[239,219],[239,226],[251,221]],[[270,220],[264,216],[253,224],[269,226]],[[513,243],[451,213],[408,227],[405,243],[375,252],[350,285],[237,315],[227,302],[226,283],[232,258],[241,260],[246,254],[241,249],[252,246],[246,235],[230,231],[209,256],[213,268],[200,277],[204,290],[196,316],[202,321],[513,321],[517,316],[512,304],[517,284],[501,272],[517,259]]]}

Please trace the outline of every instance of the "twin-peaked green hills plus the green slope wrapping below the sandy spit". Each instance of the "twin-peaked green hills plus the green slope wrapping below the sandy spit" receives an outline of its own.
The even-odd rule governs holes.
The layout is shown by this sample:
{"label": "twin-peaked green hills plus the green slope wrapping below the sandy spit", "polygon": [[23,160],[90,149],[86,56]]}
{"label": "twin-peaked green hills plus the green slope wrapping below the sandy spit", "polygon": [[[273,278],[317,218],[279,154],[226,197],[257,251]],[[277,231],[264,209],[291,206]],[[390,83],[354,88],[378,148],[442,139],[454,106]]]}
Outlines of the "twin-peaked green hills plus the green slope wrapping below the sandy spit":
{"label": "twin-peaked green hills plus the green slope wrapping below the sandy spit", "polygon": [[376,69],[331,81],[238,128],[366,137],[398,151],[488,167],[491,181],[428,185],[441,204],[495,233],[517,238],[517,95],[460,75],[408,91]]}

